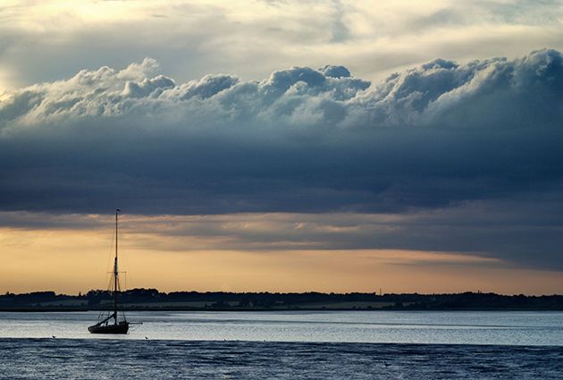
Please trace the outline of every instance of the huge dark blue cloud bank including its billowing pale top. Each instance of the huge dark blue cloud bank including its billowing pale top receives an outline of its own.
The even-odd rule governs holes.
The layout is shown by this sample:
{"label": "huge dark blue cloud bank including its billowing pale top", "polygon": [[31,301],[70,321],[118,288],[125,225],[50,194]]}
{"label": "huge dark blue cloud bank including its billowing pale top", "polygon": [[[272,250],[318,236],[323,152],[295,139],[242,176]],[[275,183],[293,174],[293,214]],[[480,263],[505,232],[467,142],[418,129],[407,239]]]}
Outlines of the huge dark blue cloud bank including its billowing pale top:
{"label": "huge dark blue cloud bank including its billowing pale top", "polygon": [[562,121],[554,50],[379,84],[341,66],[179,84],[146,59],[0,103],[0,209],[416,215],[363,246],[563,269]]}

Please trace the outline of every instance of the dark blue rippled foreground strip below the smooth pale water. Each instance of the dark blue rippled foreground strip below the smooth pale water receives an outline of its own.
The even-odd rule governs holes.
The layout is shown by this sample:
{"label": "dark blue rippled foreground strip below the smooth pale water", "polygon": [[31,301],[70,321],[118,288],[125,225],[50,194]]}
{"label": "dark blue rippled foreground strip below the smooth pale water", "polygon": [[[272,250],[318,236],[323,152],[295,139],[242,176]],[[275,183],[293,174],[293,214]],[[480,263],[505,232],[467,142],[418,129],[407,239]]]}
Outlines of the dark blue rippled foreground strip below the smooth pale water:
{"label": "dark blue rippled foreground strip below the smooth pale water", "polygon": [[0,339],[3,379],[560,379],[553,347]]}

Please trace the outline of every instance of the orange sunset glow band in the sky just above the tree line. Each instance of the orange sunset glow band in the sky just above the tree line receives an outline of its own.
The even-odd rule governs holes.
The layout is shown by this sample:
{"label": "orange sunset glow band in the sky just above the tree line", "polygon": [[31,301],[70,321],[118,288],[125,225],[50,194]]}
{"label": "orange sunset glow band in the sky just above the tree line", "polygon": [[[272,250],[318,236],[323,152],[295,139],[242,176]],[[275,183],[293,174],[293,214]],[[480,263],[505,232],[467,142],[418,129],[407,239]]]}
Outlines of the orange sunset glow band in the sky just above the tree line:
{"label": "orange sunset glow band in the sky just above the tree line", "polygon": [[[263,217],[237,219],[248,220],[248,227]],[[1,229],[0,291],[77,294],[105,289],[113,263],[111,218],[94,218],[107,221],[110,228]],[[181,226],[178,218],[126,217],[125,224],[128,219],[134,227],[123,227],[120,243],[126,289],[542,294],[563,286],[558,272],[507,268],[499,259],[477,255],[399,249],[213,249],[224,247],[225,239],[166,236],[172,225]],[[221,219],[233,223],[231,217]],[[139,230],[146,225],[153,230],[161,225],[163,233]]]}

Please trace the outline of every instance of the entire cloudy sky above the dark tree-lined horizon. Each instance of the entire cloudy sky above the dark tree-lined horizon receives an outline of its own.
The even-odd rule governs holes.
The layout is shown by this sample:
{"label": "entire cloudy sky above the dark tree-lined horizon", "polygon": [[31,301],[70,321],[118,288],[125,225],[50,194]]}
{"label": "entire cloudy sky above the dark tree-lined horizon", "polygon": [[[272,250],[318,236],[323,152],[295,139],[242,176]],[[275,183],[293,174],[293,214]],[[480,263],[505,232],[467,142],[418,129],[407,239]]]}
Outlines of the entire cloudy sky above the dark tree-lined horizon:
{"label": "entire cloudy sky above the dark tree-lined horizon", "polygon": [[0,292],[563,292],[563,2],[0,4]]}

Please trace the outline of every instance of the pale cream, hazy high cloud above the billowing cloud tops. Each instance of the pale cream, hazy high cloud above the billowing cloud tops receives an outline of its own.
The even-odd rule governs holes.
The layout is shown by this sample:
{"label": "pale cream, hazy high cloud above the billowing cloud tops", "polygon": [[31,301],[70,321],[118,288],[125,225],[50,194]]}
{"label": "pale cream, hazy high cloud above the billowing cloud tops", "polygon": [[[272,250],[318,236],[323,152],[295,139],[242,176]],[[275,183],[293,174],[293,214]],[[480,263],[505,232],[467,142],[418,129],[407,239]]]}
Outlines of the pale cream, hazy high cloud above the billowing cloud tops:
{"label": "pale cream, hazy high cloud above the billowing cloud tops", "polygon": [[256,79],[292,64],[331,62],[375,80],[435,56],[466,61],[563,49],[557,0],[49,0],[1,9],[0,93],[144,56],[179,81],[217,72]]}

